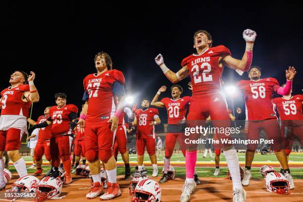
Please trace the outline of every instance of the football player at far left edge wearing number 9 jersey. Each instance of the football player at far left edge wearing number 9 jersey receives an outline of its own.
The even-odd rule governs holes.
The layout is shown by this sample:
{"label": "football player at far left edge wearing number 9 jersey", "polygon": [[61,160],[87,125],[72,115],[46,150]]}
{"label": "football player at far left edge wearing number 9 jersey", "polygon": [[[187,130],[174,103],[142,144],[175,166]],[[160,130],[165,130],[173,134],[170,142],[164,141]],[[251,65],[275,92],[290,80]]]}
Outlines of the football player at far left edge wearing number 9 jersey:
{"label": "football player at far left edge wearing number 9 jersey", "polygon": [[23,135],[28,133],[26,119],[31,102],[39,101],[34,79],[35,73],[32,71],[30,76],[21,70],[14,71],[10,75],[10,86],[0,93],[0,190],[5,187],[2,158],[4,150],[14,163],[19,176],[27,175],[26,164],[19,149]]}

